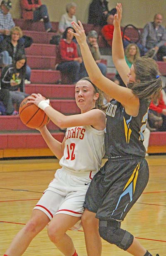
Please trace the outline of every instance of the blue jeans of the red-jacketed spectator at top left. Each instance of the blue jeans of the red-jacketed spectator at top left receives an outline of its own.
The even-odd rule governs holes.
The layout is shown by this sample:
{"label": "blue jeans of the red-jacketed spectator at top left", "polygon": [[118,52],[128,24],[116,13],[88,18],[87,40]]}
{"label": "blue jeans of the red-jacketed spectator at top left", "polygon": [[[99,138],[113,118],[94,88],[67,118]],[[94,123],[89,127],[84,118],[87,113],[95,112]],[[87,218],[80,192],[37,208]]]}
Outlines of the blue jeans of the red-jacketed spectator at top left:
{"label": "blue jeans of the red-jacketed spectator at top left", "polygon": [[33,12],[33,15],[34,22],[43,19],[45,30],[51,29],[51,22],[49,21],[49,14],[46,5],[41,5],[37,10]]}

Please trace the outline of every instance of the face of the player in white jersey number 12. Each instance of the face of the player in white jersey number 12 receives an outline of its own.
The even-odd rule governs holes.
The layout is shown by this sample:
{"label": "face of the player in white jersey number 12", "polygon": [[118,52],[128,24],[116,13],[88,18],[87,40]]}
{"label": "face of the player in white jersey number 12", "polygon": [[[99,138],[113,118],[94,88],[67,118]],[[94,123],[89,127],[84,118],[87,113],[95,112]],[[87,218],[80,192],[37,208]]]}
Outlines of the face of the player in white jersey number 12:
{"label": "face of the player in white jersey number 12", "polygon": [[86,80],[80,80],[75,87],[76,104],[81,109],[81,113],[95,108],[95,101],[99,94],[95,93],[93,85]]}

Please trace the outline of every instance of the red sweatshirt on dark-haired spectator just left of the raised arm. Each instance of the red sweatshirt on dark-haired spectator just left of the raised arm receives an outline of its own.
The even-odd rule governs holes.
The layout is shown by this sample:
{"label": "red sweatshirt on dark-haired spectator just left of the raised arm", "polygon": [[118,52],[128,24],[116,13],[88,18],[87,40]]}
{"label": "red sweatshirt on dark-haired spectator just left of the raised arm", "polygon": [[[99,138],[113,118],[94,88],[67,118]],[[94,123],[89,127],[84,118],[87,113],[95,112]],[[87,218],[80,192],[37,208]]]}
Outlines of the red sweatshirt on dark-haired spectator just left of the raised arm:
{"label": "red sweatshirt on dark-haired spectator just left of the raised arm", "polygon": [[77,45],[75,42],[68,44],[66,39],[61,39],[59,44],[61,62],[69,62],[78,58]]}

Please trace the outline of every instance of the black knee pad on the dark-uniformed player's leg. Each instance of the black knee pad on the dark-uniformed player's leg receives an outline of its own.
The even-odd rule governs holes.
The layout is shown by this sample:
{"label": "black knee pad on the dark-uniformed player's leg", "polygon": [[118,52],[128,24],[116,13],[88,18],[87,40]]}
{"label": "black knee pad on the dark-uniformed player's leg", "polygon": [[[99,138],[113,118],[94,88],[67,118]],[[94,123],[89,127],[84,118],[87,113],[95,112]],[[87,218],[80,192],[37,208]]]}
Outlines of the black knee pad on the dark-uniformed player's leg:
{"label": "black knee pad on the dark-uniformed player's leg", "polygon": [[116,220],[100,220],[99,233],[104,240],[126,251],[131,246],[134,236],[120,226],[121,223]]}

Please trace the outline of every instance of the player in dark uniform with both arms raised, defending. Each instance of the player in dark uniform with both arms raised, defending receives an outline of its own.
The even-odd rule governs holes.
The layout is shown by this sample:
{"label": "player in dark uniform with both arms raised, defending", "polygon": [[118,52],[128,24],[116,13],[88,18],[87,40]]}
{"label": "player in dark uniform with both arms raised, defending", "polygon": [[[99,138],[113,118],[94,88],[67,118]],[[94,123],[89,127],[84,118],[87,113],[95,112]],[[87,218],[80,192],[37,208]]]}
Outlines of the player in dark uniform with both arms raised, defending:
{"label": "player in dark uniform with both arms raised, defending", "polygon": [[108,161],[90,183],[82,224],[88,256],[101,255],[100,236],[134,256],[151,256],[132,234],[120,226],[149,179],[149,168],[144,159],[144,130],[149,103],[161,91],[161,78],[155,61],[150,58],[136,59],[129,69],[120,32],[122,5],[117,4],[116,8],[112,57],[126,88],[101,74],[88,49],[81,22],[79,25],[72,23],[76,33],[71,33],[80,45],[91,81],[115,99],[107,107],[105,150]]}

